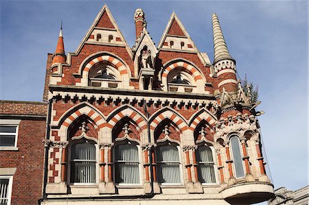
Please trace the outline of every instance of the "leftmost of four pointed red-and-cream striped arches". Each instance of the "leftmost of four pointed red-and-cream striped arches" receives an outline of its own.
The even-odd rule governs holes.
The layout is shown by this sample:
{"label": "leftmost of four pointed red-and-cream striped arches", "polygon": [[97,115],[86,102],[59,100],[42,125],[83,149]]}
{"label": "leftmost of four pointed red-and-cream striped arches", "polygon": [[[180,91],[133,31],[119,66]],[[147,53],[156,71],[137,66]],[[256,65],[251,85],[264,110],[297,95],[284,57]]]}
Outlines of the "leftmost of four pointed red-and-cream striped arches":
{"label": "leftmost of four pointed red-and-cream striped arches", "polygon": [[98,128],[102,128],[105,119],[102,117],[102,114],[98,112],[98,110],[95,110],[91,108],[88,104],[84,104],[84,106],[78,106],[79,108],[76,109],[76,106],[71,109],[74,110],[74,112],[71,112],[69,116],[66,117],[66,119],[62,122],[60,130],[67,130],[69,128],[69,125],[78,119],[78,117],[82,116],[82,114],[88,116],[90,119],[92,119],[95,122],[95,125],[98,126]]}

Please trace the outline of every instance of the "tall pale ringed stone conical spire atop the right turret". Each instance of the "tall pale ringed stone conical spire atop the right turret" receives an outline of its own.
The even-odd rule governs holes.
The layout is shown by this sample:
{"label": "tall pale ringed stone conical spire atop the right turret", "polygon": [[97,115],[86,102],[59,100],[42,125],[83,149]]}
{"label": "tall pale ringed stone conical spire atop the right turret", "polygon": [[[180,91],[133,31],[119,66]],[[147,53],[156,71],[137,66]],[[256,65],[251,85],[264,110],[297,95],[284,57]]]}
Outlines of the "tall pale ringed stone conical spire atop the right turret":
{"label": "tall pale ringed stone conical spire atop the right turret", "polygon": [[223,59],[233,60],[229,55],[217,14],[212,14],[212,32],[214,36],[214,64]]}

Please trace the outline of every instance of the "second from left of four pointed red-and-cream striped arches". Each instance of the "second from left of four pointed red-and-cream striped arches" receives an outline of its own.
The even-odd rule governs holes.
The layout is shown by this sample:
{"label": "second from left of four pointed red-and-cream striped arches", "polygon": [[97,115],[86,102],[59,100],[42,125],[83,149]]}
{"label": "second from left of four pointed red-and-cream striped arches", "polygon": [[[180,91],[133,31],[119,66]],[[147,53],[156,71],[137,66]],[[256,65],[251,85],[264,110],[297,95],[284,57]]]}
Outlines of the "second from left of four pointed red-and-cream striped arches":
{"label": "second from left of four pointed red-and-cream striped arches", "polygon": [[116,123],[121,121],[124,117],[128,117],[135,121],[135,123],[137,123],[137,130],[145,130],[147,128],[146,118],[143,114],[128,105],[124,105],[114,110],[107,118],[106,127],[112,129]]}

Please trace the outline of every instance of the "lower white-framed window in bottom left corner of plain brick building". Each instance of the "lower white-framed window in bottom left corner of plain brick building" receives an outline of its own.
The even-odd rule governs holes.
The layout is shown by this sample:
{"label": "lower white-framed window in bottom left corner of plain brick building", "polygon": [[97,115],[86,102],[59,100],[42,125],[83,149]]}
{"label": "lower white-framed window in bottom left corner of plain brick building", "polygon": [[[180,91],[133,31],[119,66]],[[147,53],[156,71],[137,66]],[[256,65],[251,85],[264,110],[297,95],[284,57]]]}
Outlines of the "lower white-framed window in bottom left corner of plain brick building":
{"label": "lower white-framed window in bottom left corner of plain brick building", "polygon": [[0,176],[0,204],[10,205],[13,176]]}

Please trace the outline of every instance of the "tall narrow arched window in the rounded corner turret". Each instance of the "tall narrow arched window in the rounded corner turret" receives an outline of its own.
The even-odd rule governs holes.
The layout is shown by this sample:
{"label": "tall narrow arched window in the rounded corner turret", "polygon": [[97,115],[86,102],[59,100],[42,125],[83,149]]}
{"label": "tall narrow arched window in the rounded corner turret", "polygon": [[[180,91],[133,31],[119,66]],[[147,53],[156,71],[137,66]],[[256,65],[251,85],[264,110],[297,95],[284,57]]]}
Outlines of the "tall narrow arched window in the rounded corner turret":
{"label": "tall narrow arched window in the rounded corner turret", "polygon": [[236,171],[236,178],[241,178],[244,176],[244,167],[242,166],[242,155],[240,152],[239,139],[237,136],[232,136],[230,141],[233,154],[233,165]]}

